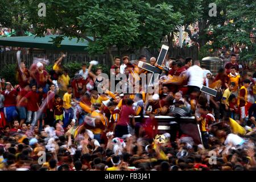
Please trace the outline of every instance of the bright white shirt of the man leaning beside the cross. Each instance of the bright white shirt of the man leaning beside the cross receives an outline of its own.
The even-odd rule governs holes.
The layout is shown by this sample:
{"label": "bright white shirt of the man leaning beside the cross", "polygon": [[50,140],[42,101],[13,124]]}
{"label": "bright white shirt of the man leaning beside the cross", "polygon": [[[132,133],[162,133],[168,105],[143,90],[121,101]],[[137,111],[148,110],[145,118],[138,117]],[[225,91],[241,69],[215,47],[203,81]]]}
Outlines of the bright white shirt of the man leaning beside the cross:
{"label": "bright white shirt of the man leaning beside the cross", "polygon": [[203,78],[203,69],[197,65],[193,65],[189,67],[187,70],[188,78],[188,85],[189,86],[198,86],[199,88],[202,87],[204,78]]}

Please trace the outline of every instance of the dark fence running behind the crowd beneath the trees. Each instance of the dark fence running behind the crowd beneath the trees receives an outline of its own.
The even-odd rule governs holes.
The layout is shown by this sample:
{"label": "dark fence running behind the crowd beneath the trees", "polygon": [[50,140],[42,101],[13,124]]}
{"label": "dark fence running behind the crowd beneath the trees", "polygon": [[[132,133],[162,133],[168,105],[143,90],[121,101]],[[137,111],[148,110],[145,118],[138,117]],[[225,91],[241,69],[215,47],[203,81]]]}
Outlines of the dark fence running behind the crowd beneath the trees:
{"label": "dark fence running behind the crowd beneath the trees", "polygon": [[[144,49],[143,54],[147,56],[147,59],[149,60],[150,57],[158,57],[158,51],[156,49]],[[113,56],[118,55],[117,51],[113,51]],[[123,55],[128,55],[130,57],[130,60],[136,60],[139,56],[139,51],[135,51],[133,53],[127,53]],[[123,56],[122,55],[122,56]],[[176,56],[183,56],[183,57],[192,57],[193,60],[198,59],[198,49],[197,47],[189,47],[189,48],[179,48],[174,47],[171,49],[171,55],[170,57],[176,57]],[[53,52],[53,51],[41,51],[41,52],[27,52],[23,51],[21,54],[21,57],[23,60],[26,61],[27,66],[31,65],[33,62],[34,57],[38,58],[46,58],[49,60],[50,64],[53,64],[53,61],[58,59],[60,57],[59,52]],[[76,62],[76,63],[83,63],[83,62],[89,62],[90,60],[97,60],[100,64],[105,65],[107,68],[110,68],[111,63],[109,60],[108,55],[100,55],[100,56],[89,56],[86,53],[81,52],[68,52],[67,57],[63,60],[64,64],[70,63],[70,62]],[[6,51],[0,53],[0,69],[5,68],[5,65],[7,64],[15,64],[16,63],[16,51]]]}

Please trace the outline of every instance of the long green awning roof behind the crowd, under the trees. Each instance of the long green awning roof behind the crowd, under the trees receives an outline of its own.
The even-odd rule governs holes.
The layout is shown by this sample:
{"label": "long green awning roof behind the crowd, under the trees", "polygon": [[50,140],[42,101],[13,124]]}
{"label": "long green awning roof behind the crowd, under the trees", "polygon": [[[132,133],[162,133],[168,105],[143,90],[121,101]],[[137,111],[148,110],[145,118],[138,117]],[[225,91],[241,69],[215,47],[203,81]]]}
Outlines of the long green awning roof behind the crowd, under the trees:
{"label": "long green awning roof behind the crowd, under the trees", "polygon": [[[42,38],[35,36],[15,36],[9,38],[0,38],[0,46],[12,46],[12,47],[27,47],[27,48],[39,48],[61,51],[85,51],[88,47],[87,40],[80,40],[77,42],[77,38],[65,37],[61,42],[60,47],[53,46],[51,38],[56,38],[58,35],[47,35]],[[92,38],[89,38],[92,39]]]}

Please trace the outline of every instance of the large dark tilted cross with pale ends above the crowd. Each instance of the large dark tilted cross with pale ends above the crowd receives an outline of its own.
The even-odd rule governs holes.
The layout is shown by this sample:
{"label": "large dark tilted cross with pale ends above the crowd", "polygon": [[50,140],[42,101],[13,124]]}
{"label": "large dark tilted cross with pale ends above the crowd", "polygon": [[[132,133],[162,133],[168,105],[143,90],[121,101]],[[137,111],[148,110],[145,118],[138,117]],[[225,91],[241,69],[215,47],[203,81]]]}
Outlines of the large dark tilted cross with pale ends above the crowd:
{"label": "large dark tilted cross with pale ends above the crowd", "polygon": [[[161,51],[158,56],[158,60],[156,61],[156,63],[159,65],[159,67],[162,67],[164,59],[166,58],[168,49],[169,49],[168,46],[166,46],[166,45],[162,46]],[[150,78],[150,84],[152,84],[156,80],[158,80],[159,75],[162,73],[162,69],[155,67],[151,64],[144,63],[143,61],[139,61],[138,67],[142,68],[142,69],[146,69],[148,72],[152,73],[152,76]],[[155,75],[156,75],[156,77],[155,77]],[[154,77],[156,78],[156,80],[154,80]]]}

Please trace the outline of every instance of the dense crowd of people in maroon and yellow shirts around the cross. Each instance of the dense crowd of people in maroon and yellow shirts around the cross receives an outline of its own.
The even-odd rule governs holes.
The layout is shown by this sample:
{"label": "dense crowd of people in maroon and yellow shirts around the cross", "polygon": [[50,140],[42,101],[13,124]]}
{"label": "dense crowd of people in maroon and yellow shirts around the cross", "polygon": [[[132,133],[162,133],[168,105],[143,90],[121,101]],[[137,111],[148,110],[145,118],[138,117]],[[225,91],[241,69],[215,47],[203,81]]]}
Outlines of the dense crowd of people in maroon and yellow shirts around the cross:
{"label": "dense crowd of people in maroon and yellow shirts around the cross", "polygon": [[[70,78],[64,57],[50,72],[44,61],[29,69],[18,61],[18,85],[1,76],[0,170],[256,170],[256,72],[241,69],[239,55],[230,54],[217,75],[191,57],[171,57],[163,65],[144,55],[115,57],[114,86],[124,83],[123,91],[139,84],[138,93],[102,86],[113,83],[97,61],[82,64]],[[149,73],[139,61],[162,70],[158,93],[133,81]],[[125,79],[117,79],[120,74]],[[216,97],[200,92],[202,85],[217,90]],[[160,131],[156,116],[175,118],[175,125]],[[182,117],[199,130],[185,133]]]}

